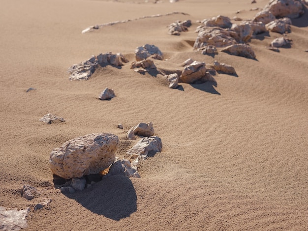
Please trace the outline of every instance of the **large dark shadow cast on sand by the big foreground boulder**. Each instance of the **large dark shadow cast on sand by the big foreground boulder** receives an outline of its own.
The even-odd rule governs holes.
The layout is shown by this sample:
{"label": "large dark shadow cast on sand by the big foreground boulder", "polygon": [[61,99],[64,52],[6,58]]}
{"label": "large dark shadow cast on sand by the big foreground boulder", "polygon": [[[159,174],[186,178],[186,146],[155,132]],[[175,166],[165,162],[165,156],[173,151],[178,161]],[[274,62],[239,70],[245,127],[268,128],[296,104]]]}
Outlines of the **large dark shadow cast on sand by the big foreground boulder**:
{"label": "large dark shadow cast on sand by the big foreground boulder", "polygon": [[123,175],[109,176],[80,192],[65,194],[91,212],[115,221],[137,211],[137,196],[131,180]]}

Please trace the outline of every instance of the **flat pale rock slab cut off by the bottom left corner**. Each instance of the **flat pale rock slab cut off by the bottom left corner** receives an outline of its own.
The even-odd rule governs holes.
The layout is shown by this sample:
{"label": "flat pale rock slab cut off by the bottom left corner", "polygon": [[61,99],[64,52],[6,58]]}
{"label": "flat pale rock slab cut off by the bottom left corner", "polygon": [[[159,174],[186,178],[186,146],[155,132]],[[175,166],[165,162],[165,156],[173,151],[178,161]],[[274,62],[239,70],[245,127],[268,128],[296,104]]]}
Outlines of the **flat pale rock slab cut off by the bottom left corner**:
{"label": "flat pale rock slab cut off by the bottom left corner", "polygon": [[20,231],[27,228],[27,219],[30,208],[8,209],[0,206],[0,229],[3,231]]}

